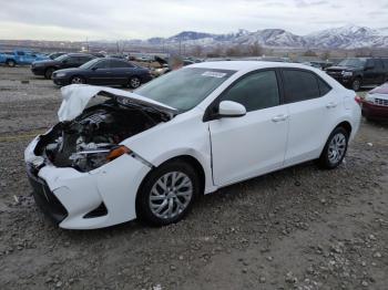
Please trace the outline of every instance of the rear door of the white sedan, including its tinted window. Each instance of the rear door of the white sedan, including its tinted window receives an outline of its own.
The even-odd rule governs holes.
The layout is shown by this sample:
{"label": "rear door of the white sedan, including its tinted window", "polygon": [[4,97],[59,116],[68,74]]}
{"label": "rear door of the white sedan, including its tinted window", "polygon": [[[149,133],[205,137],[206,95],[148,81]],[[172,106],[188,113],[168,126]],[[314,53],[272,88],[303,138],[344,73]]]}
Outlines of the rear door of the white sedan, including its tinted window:
{"label": "rear door of the white sedan, including its tinted window", "polygon": [[317,158],[340,107],[331,87],[308,70],[283,69],[289,127],[285,166]]}

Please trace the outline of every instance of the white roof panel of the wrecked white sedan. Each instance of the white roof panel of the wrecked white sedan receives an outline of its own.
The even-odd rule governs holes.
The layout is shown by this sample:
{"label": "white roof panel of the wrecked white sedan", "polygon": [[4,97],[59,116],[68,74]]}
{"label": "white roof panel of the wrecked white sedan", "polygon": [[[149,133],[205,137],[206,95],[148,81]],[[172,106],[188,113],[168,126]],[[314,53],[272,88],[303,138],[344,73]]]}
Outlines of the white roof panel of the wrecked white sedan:
{"label": "white roof panel of the wrecked white sedan", "polygon": [[267,62],[267,61],[217,61],[217,62],[201,62],[190,65],[190,68],[204,68],[215,70],[232,70],[232,71],[249,71],[270,68],[290,68],[290,69],[305,69],[309,71],[316,71],[310,66],[300,63],[287,63],[287,62]]}

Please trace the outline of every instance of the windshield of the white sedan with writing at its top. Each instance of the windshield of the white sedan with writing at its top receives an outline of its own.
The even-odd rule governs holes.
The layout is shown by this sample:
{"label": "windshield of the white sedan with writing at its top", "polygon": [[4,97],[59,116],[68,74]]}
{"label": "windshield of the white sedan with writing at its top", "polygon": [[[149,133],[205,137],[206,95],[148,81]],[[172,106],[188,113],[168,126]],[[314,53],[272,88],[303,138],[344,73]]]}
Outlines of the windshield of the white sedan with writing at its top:
{"label": "windshield of the white sedan with writing at its top", "polygon": [[135,93],[185,112],[200,104],[234,73],[228,70],[181,69],[150,82]]}

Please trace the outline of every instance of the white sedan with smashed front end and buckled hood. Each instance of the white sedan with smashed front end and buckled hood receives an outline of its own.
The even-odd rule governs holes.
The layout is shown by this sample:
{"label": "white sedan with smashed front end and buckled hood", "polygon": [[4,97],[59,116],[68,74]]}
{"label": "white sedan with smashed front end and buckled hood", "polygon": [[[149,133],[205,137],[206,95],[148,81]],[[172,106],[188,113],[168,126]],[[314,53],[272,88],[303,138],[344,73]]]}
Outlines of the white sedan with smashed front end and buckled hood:
{"label": "white sedan with smashed front end and buckled hood", "polygon": [[207,62],[134,93],[62,94],[24,158],[37,204],[68,229],[167,225],[221,187],[312,159],[335,168],[360,122],[355,92],[302,64]]}

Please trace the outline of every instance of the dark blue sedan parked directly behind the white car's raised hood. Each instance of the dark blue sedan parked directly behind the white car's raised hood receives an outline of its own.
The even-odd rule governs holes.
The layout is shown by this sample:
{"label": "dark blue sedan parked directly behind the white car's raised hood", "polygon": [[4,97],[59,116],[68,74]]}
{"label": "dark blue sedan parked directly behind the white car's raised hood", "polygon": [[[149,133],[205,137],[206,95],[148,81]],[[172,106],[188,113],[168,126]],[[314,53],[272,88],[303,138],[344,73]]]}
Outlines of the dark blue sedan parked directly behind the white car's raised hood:
{"label": "dark blue sedan parked directly behind the white car's raised hood", "polygon": [[132,89],[152,80],[147,69],[136,66],[125,60],[94,59],[80,68],[60,70],[53,73],[58,85],[88,83],[99,85],[123,85]]}

